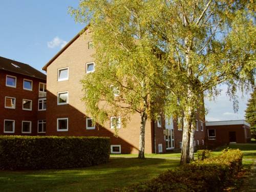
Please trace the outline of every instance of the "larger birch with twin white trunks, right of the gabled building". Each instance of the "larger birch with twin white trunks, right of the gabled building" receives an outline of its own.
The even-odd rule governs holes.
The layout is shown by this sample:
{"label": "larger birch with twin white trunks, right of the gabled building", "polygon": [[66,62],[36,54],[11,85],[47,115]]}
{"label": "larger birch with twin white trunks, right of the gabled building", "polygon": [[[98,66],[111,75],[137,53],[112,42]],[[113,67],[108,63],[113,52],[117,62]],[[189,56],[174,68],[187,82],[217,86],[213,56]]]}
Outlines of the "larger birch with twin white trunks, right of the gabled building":
{"label": "larger birch with twin white trunks, right of the gabled building", "polygon": [[[159,0],[152,8],[148,25],[161,43],[168,80],[159,86],[170,90],[165,111],[173,114],[180,108],[184,114],[184,164],[194,157],[195,115],[205,114],[200,97],[215,98],[217,86],[226,83],[236,111],[236,92],[254,84],[255,7],[252,1]],[[174,106],[177,98],[179,108]]]}

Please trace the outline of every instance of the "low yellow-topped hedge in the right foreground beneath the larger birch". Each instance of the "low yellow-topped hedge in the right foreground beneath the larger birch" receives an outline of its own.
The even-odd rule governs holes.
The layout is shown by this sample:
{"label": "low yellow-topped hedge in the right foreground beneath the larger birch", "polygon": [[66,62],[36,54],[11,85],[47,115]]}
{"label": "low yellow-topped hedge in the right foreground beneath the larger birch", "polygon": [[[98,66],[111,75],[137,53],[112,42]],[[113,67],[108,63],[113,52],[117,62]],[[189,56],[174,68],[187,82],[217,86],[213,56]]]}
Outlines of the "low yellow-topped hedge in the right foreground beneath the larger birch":
{"label": "low yellow-topped hedge in the right foreground beneath the larger birch", "polygon": [[223,191],[228,180],[240,171],[242,158],[240,150],[225,150],[218,157],[195,161],[153,180],[110,191]]}

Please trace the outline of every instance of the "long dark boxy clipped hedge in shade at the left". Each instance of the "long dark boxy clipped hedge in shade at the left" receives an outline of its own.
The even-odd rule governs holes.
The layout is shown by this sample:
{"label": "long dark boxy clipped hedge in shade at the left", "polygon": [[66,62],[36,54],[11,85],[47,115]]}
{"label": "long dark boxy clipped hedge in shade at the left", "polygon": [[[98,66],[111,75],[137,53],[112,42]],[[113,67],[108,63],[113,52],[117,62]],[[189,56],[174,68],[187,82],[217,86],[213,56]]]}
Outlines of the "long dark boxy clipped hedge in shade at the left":
{"label": "long dark boxy clipped hedge in shade at the left", "polygon": [[85,167],[109,156],[106,137],[0,136],[0,169]]}

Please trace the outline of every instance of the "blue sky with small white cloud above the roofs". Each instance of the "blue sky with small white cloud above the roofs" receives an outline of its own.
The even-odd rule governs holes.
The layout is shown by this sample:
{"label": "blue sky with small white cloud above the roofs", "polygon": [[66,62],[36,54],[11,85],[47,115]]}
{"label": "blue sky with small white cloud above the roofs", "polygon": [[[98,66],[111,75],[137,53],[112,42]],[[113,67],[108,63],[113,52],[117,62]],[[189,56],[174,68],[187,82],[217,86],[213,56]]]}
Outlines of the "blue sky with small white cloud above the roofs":
{"label": "blue sky with small white cloud above the roofs", "polygon": [[[68,7],[78,0],[1,0],[0,56],[24,62],[37,70],[71,40],[84,25],[76,24]],[[0,63],[1,65],[1,63]],[[234,114],[226,87],[215,101],[205,99],[207,121],[244,119],[249,93],[238,94],[239,111]]]}

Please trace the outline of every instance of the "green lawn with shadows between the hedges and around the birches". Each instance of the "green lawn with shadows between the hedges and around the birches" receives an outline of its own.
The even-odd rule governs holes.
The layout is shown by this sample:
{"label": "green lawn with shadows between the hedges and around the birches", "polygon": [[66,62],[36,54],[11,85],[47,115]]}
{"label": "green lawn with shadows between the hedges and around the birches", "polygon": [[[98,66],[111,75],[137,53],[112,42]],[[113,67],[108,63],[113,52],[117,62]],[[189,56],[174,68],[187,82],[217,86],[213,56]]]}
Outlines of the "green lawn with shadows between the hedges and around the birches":
{"label": "green lawn with shadows between the hedges and around the birches", "polygon": [[[249,166],[256,159],[256,144],[232,144],[241,148],[243,164]],[[214,155],[220,154],[212,152]],[[158,176],[179,165],[179,153],[150,154],[140,160],[136,155],[111,155],[102,165],[61,170],[0,171],[0,191],[102,191],[128,186]]]}

